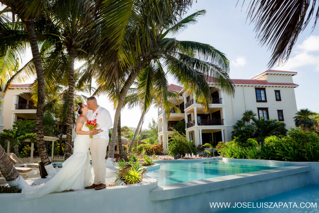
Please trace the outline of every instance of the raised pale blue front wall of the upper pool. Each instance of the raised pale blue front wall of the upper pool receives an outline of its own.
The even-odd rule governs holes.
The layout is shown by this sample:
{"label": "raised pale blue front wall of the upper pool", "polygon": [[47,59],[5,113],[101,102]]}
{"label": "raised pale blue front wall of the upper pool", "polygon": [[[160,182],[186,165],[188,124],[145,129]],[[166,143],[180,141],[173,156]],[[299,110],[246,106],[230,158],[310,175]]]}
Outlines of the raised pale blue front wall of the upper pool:
{"label": "raised pale blue front wall of the upper pool", "polygon": [[162,201],[174,199],[188,195],[200,194],[213,190],[219,190],[222,188],[229,188],[308,171],[311,171],[311,166],[294,165],[269,170],[253,171],[234,175],[220,176],[215,178],[162,185],[158,186],[157,188],[154,188],[151,191],[150,200]]}

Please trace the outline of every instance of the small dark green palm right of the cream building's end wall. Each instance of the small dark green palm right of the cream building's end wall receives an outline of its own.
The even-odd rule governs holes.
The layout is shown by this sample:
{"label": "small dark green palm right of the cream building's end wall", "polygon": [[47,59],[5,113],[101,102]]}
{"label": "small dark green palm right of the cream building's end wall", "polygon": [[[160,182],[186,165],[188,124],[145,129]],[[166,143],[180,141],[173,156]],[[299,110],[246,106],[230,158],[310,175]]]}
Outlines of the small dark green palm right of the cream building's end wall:
{"label": "small dark green palm right of the cream building's end wall", "polygon": [[301,109],[296,113],[296,116],[293,117],[295,126],[300,127],[302,132],[308,132],[315,125],[311,116],[315,115],[315,112],[312,112],[308,109]]}

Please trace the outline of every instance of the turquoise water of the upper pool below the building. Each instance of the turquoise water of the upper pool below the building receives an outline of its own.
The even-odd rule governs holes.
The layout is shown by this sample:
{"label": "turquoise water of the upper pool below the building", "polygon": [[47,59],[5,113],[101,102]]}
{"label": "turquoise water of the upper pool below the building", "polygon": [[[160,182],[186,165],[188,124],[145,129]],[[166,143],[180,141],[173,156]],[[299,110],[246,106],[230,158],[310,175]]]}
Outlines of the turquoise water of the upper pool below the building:
{"label": "turquoise water of the upper pool below the building", "polygon": [[284,167],[285,165],[272,165],[249,162],[224,162],[208,159],[205,162],[160,162],[160,169],[148,171],[147,175],[157,179],[159,185],[181,183],[192,180],[220,177],[246,173],[251,171],[267,170]]}

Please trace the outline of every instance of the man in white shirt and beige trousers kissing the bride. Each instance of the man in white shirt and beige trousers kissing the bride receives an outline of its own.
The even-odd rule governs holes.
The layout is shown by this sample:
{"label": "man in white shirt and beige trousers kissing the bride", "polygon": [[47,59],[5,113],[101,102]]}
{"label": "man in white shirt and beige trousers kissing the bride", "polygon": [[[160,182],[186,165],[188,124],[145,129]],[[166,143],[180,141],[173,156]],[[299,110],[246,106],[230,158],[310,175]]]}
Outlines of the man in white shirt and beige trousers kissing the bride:
{"label": "man in white shirt and beige trousers kissing the bride", "polygon": [[86,105],[89,108],[87,118],[89,120],[96,119],[96,123],[99,125],[99,129],[90,130],[90,134],[93,136],[90,143],[90,152],[92,156],[92,165],[94,171],[94,183],[91,186],[87,186],[85,188],[94,188],[95,190],[100,190],[106,187],[105,156],[109,141],[108,129],[113,126],[113,123],[108,110],[100,107],[97,104],[96,98],[94,96],[87,98]]}

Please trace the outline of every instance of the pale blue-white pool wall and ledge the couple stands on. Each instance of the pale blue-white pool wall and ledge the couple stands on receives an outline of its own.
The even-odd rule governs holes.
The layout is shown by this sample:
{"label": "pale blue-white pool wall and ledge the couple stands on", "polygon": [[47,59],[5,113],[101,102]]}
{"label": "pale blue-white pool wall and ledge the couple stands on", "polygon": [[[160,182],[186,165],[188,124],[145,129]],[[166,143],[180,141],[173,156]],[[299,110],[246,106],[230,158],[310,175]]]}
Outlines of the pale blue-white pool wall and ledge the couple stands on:
{"label": "pale blue-white pool wall and ledge the couple stands on", "polygon": [[[221,158],[218,158],[221,159]],[[289,165],[216,178],[158,186],[148,176],[142,183],[112,186],[96,191],[51,193],[34,200],[21,200],[22,194],[0,194],[2,212],[214,212],[210,202],[249,202],[307,184],[319,183],[319,162],[227,159],[225,161],[263,162]],[[165,160],[196,161],[194,160]],[[150,170],[158,168],[152,166]],[[107,169],[108,184],[114,183],[114,170]]]}

